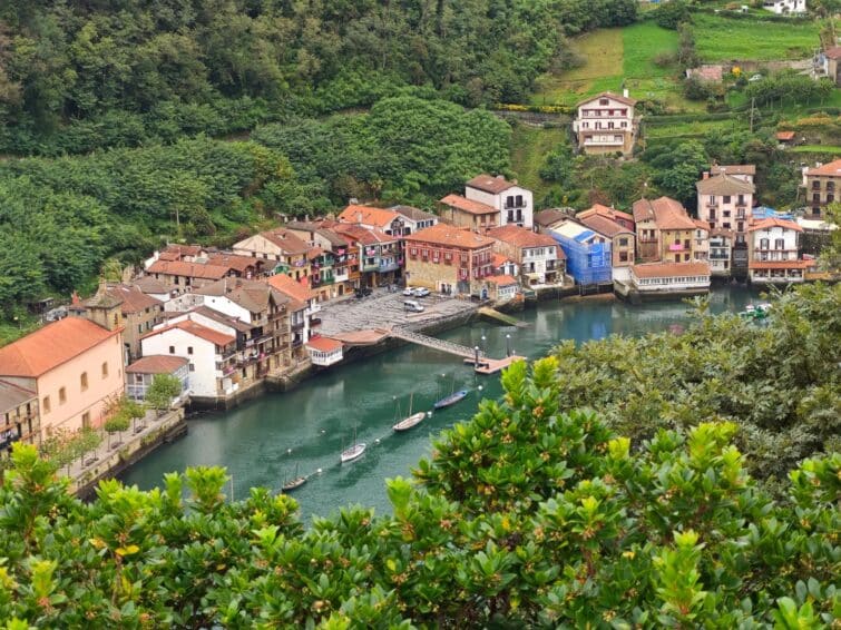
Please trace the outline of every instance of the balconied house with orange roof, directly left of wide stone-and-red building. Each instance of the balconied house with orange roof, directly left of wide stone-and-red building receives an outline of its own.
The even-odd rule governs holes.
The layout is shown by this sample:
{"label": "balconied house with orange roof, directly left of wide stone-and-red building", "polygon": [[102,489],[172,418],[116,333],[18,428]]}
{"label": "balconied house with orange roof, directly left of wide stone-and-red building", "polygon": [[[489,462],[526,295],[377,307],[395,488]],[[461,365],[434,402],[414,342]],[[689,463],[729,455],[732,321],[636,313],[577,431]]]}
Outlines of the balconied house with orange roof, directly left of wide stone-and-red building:
{"label": "balconied house with orange roof, directly left of wide stone-and-red building", "polygon": [[401,237],[352,224],[338,223],[332,229],[355,249],[358,264],[351,262],[351,273],[356,267],[359,287],[374,288],[397,282],[403,263]]}

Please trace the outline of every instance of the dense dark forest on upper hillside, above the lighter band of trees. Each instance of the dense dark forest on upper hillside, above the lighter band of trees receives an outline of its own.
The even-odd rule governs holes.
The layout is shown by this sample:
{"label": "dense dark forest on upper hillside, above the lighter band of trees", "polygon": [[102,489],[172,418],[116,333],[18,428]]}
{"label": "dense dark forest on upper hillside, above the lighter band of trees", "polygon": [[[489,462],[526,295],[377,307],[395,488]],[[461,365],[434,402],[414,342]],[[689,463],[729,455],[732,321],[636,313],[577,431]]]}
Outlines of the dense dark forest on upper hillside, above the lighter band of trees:
{"label": "dense dark forest on upper hillside, above the lighter band of trees", "polygon": [[635,17],[635,0],[9,0],[0,151],[216,136],[401,86],[517,101],[566,35]]}

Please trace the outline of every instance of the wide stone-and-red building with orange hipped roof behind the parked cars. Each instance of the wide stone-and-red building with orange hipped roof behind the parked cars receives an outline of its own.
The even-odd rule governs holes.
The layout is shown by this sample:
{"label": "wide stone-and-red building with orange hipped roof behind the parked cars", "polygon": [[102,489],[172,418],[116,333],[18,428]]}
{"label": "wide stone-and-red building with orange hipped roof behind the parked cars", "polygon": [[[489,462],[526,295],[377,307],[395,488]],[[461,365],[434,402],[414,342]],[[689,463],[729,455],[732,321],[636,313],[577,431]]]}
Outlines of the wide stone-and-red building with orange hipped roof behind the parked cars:
{"label": "wide stone-and-red building with orange hipped roof behind the parked cars", "polygon": [[492,238],[438,224],[405,237],[405,280],[442,293],[480,294],[493,273]]}

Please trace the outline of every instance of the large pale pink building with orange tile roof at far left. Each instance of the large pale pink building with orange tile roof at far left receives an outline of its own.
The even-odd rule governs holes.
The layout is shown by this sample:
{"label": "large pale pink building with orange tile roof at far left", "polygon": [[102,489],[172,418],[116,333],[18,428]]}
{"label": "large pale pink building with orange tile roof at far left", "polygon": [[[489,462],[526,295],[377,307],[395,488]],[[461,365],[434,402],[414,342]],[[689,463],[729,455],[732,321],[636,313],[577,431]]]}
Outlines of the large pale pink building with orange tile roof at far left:
{"label": "large pale pink building with orange tile roof at far left", "polygon": [[67,317],[0,348],[0,377],[38,396],[42,437],[100,425],[108,403],[125,392],[119,305],[106,317],[110,329]]}

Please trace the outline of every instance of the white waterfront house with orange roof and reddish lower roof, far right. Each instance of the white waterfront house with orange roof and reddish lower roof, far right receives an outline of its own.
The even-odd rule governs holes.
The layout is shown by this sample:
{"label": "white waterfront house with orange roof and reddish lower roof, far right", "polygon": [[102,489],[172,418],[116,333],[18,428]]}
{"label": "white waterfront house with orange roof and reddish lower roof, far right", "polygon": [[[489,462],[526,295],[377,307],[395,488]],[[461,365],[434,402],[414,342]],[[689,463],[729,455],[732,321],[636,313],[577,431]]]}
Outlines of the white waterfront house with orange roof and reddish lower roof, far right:
{"label": "white waterfront house with orange roof and reddish lower roof, far right", "polygon": [[755,220],[749,227],[749,278],[753,284],[802,283],[813,260],[798,259],[796,223],[779,218]]}

